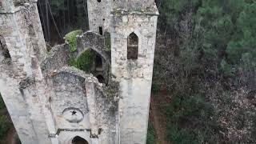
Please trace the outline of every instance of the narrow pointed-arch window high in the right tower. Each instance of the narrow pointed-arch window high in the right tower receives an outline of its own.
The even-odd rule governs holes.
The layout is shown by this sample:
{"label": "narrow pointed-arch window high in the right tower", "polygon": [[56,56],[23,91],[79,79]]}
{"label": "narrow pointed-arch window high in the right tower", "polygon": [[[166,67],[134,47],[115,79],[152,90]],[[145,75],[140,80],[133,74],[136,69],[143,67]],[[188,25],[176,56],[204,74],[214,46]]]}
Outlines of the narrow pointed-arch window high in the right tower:
{"label": "narrow pointed-arch window high in the right tower", "polygon": [[134,33],[128,36],[127,59],[138,59],[138,36]]}

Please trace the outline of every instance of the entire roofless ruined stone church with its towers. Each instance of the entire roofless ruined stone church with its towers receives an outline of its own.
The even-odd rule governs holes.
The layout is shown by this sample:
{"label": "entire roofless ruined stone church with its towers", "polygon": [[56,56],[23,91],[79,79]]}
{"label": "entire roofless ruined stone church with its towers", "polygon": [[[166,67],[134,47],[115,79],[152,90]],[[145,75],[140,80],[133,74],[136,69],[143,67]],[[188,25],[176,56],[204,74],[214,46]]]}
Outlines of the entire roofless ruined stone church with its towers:
{"label": "entire roofless ruined stone church with its towers", "polygon": [[[146,143],[158,9],[87,6],[90,30],[70,53],[68,42],[46,50],[37,0],[0,1],[0,93],[23,144]],[[97,54],[91,74],[68,64],[86,50]]]}

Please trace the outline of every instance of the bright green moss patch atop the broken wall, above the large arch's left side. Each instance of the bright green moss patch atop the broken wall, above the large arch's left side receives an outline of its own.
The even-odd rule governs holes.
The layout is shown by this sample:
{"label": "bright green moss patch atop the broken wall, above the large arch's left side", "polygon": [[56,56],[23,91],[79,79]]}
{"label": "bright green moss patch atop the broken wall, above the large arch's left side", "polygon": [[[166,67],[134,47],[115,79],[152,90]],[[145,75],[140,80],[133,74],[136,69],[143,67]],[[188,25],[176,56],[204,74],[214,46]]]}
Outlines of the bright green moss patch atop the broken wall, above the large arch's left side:
{"label": "bright green moss patch atop the broken wall, above the large arch's left side", "polygon": [[77,36],[80,34],[82,34],[82,30],[74,30],[66,34],[65,40],[70,45],[70,52],[74,52],[75,50],[77,50]]}

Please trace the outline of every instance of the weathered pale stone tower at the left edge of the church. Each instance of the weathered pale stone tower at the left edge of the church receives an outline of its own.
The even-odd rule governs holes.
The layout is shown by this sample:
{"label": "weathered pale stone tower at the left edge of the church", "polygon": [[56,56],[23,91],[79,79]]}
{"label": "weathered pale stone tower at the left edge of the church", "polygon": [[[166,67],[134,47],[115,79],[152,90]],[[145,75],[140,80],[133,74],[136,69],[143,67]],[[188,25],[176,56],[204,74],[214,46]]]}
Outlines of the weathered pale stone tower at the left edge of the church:
{"label": "weathered pale stone tower at the left edge of the church", "polygon": [[22,86],[24,80],[34,79],[38,61],[46,54],[37,6],[30,2],[14,7],[6,0],[2,4],[0,35],[10,62],[0,62],[0,92],[22,143],[47,144],[49,131],[36,82]]}

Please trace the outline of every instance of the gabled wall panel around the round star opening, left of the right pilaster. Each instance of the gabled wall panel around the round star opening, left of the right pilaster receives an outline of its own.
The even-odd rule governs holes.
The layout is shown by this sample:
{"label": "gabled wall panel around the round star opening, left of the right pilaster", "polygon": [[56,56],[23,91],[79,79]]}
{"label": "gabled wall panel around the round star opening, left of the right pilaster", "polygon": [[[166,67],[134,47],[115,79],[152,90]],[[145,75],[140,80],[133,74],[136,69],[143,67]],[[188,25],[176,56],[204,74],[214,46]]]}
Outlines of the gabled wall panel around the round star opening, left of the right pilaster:
{"label": "gabled wall panel around the round star opening, left of the right pilaster", "polygon": [[[58,129],[90,128],[88,120],[88,106],[86,100],[85,78],[89,75],[79,75],[75,68],[63,67],[57,72],[51,73],[46,82],[54,91],[50,96],[50,106],[54,114]],[[71,123],[63,118],[63,111],[75,108],[82,112],[84,121]],[[86,119],[87,118],[87,119]]]}

